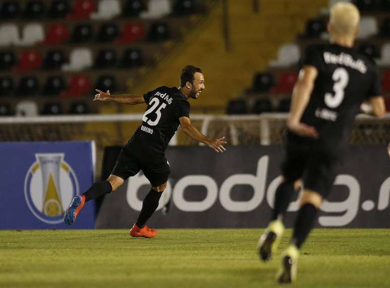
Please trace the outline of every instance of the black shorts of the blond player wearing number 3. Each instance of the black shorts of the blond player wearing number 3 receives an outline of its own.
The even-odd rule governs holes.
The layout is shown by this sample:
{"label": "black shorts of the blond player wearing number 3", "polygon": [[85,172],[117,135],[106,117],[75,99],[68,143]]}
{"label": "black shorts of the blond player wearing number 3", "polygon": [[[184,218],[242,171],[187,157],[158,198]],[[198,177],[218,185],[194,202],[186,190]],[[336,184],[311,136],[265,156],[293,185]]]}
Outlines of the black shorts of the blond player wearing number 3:
{"label": "black shorts of the blond player wearing number 3", "polygon": [[338,153],[332,149],[287,141],[282,174],[291,182],[302,178],[305,189],[325,199],[335,181],[337,164]]}

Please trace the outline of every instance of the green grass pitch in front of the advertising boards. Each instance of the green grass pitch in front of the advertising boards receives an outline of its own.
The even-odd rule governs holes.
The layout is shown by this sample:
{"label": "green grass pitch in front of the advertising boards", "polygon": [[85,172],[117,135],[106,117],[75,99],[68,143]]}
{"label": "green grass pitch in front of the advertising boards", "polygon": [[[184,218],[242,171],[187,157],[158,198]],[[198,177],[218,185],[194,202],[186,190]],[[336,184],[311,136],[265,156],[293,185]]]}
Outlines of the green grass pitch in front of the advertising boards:
{"label": "green grass pitch in front of the advertising boards", "polygon": [[[262,231],[0,231],[0,287],[280,287],[291,230],[267,264],[255,250]],[[293,287],[390,287],[390,229],[315,229],[298,263]]]}

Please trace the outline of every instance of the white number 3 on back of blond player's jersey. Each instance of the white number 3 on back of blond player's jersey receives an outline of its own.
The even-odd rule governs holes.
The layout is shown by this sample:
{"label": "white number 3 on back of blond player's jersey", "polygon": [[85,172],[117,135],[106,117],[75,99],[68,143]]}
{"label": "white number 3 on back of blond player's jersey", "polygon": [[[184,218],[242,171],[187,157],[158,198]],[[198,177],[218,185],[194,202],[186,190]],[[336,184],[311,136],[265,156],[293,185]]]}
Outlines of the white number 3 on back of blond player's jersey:
{"label": "white number 3 on back of blond player's jersey", "polygon": [[333,72],[332,79],[335,81],[335,85],[333,85],[335,95],[332,95],[332,93],[325,93],[325,104],[330,108],[336,108],[344,99],[344,90],[349,81],[347,70],[344,68],[337,68],[335,72]]}

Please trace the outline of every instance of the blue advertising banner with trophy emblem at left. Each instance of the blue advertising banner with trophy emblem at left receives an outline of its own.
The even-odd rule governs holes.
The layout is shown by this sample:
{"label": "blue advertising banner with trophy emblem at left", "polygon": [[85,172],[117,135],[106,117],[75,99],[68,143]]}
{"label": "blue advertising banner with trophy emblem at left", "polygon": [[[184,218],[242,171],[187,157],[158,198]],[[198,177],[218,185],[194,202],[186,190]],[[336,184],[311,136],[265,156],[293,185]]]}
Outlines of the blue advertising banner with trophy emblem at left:
{"label": "blue advertising banner with trophy emblem at left", "polygon": [[94,228],[94,205],[72,227],[62,221],[73,197],[93,184],[93,145],[0,143],[0,229]]}

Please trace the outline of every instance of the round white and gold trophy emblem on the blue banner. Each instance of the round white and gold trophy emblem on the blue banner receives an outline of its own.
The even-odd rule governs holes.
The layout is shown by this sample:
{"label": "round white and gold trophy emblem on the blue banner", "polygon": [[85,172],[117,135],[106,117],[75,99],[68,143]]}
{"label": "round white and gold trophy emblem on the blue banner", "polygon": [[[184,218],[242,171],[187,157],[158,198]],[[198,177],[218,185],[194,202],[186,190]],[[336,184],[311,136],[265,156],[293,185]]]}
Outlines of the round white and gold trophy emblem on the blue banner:
{"label": "round white and gold trophy emblem on the blue banner", "polygon": [[64,153],[37,153],[35,158],[25,177],[28,207],[43,222],[61,223],[64,210],[79,194],[76,174],[64,161]]}

